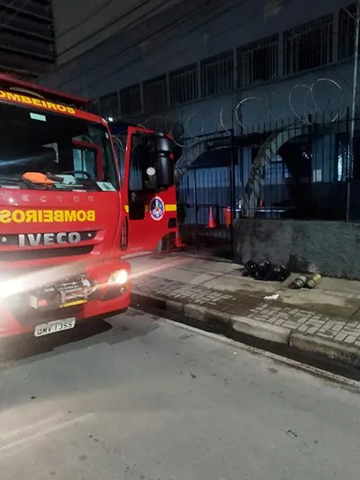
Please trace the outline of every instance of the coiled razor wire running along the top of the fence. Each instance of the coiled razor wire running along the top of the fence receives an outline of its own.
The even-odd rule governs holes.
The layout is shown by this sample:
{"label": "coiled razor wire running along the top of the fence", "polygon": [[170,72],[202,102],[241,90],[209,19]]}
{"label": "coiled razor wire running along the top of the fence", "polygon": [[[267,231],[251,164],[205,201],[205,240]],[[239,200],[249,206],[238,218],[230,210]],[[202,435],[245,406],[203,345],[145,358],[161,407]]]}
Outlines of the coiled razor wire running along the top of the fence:
{"label": "coiled razor wire running along the top of the fence", "polygon": [[[267,91],[266,91],[267,90]],[[170,112],[135,119],[139,126],[172,135],[181,147],[191,147],[205,133],[272,131],[294,121],[306,126],[344,119],[351,101],[351,86],[339,77],[311,77],[308,82],[282,82],[256,95],[238,94],[203,99]]]}

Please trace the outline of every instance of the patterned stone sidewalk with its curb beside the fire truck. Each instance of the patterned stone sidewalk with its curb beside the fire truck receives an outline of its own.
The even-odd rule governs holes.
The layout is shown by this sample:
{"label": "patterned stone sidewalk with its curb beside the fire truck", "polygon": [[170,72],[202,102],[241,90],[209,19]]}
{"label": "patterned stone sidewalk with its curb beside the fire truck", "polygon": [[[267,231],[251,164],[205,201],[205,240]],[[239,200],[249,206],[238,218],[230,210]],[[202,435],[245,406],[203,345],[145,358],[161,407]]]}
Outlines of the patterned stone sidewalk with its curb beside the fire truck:
{"label": "patterned stone sidewalk with its curb beside the fire truck", "polygon": [[[360,282],[323,278],[313,290],[242,276],[238,264],[189,253],[130,260],[133,306],[225,324],[360,367]],[[276,301],[266,295],[279,294]]]}

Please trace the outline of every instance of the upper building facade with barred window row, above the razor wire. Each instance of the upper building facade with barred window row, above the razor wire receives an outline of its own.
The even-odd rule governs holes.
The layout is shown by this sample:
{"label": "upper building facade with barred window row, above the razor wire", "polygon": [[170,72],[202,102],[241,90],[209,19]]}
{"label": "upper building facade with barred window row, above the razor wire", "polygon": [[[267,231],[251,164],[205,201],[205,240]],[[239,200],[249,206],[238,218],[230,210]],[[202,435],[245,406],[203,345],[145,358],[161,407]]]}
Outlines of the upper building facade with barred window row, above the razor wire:
{"label": "upper building facade with barred window row, above the razor wire", "polygon": [[[229,111],[239,101],[244,124],[263,122],[269,111],[281,119],[293,110],[306,112],[298,88],[314,80],[320,111],[336,110],[351,95],[354,12],[346,0],[319,0],[306,9],[300,0],[230,0],[221,6],[185,0],[63,63],[42,81],[86,95],[103,115],[131,119],[154,113],[188,119],[194,111],[209,117],[207,110],[212,117],[220,105],[223,121],[231,124]],[[250,97],[264,95],[266,106],[249,104]]]}

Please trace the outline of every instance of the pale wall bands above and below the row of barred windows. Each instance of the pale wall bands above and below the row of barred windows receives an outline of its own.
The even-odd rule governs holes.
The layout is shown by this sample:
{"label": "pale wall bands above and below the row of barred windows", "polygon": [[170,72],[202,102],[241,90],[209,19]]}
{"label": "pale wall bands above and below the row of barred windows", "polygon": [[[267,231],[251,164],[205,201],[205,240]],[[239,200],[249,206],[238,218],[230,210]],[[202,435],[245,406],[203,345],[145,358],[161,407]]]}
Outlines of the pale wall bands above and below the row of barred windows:
{"label": "pale wall bands above and below the row of barred windows", "polygon": [[[141,28],[121,32],[88,50],[42,83],[94,99],[330,12],[334,13],[336,45],[338,10],[348,3],[317,0],[304,8],[302,0],[230,0],[225,4],[210,0],[206,5],[203,0],[184,0]],[[336,56],[334,51],[335,60]],[[275,122],[300,122],[309,114],[337,120],[338,109],[345,113],[351,94],[351,61],[334,61],[296,77],[280,77],[134,120],[166,131],[181,124],[184,138],[230,128],[264,130]]]}

